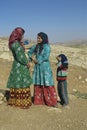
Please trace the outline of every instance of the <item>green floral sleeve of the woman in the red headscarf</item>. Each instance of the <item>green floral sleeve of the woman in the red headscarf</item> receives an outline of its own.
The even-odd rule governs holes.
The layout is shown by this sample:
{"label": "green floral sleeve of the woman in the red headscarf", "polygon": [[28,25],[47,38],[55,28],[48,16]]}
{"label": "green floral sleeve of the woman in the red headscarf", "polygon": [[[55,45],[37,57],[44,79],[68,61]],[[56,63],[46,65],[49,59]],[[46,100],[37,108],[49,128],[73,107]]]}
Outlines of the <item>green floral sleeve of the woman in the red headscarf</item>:
{"label": "green floral sleeve of the woman in the red headscarf", "polygon": [[20,43],[14,43],[12,46],[14,58],[23,65],[27,65],[28,59]]}

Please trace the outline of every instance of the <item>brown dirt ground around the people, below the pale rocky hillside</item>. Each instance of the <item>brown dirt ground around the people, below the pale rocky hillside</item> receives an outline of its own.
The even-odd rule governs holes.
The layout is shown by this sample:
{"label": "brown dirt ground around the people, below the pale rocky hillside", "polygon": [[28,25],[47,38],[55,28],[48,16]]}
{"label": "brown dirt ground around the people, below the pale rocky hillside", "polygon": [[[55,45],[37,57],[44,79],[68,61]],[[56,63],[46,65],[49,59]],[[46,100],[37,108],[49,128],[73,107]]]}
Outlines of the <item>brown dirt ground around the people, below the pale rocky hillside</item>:
{"label": "brown dirt ground around the people, below the pale rocky hillside", "polygon": [[[0,89],[6,89],[11,62],[0,59]],[[52,64],[54,80],[56,66]],[[55,80],[55,87],[56,87]],[[56,89],[57,90],[57,89]],[[70,65],[69,108],[32,105],[30,109],[0,105],[0,130],[87,130],[87,70]],[[33,86],[31,86],[33,96]]]}

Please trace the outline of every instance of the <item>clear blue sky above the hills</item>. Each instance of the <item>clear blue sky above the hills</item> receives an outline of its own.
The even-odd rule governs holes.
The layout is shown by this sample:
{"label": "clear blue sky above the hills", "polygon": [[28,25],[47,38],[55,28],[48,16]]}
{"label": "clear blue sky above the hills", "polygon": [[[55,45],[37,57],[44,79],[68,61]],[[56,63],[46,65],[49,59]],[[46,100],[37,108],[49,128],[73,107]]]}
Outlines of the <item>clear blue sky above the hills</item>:
{"label": "clear blue sky above the hills", "polygon": [[0,37],[23,27],[25,37],[50,42],[87,39],[87,0],[0,0]]}

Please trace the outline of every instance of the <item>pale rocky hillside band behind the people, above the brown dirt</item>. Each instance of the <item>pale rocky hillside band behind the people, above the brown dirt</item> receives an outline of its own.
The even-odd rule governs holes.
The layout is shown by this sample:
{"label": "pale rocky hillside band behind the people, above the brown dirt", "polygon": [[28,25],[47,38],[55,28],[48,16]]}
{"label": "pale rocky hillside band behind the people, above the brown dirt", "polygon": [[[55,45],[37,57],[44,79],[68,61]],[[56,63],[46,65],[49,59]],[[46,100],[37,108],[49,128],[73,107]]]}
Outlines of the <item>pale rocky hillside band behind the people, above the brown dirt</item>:
{"label": "pale rocky hillside band behind the people, above the brown dirt", "polygon": [[[79,43],[82,43],[81,41],[78,41]],[[31,47],[33,43],[31,42],[29,45],[26,45],[26,53],[28,51],[27,48]],[[76,44],[77,45],[77,44]],[[87,45],[85,42],[85,48],[83,47],[76,47],[75,44],[74,47],[69,46],[61,46],[57,44],[51,45],[51,61],[56,62],[56,55],[60,53],[64,53],[67,55],[69,59],[69,63],[77,66],[81,66],[84,68],[87,68]],[[81,44],[80,44],[81,46]],[[8,49],[8,41],[7,39],[0,39],[0,58],[7,59],[9,61],[13,60],[13,57],[11,55],[11,52]]]}

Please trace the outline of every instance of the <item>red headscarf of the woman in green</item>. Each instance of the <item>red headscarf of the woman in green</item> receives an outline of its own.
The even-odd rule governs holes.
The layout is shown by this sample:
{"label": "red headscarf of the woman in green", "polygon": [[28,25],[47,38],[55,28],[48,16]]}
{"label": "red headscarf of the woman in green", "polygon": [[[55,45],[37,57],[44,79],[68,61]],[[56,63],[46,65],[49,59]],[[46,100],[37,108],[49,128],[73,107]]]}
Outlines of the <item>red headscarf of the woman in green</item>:
{"label": "red headscarf of the woman in green", "polygon": [[11,48],[11,45],[15,41],[18,41],[18,42],[21,41],[24,32],[25,32],[24,29],[22,29],[21,27],[17,27],[13,30],[13,32],[11,33],[9,37],[9,48]]}

